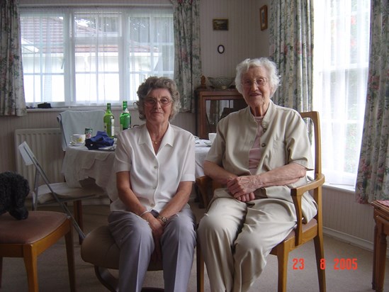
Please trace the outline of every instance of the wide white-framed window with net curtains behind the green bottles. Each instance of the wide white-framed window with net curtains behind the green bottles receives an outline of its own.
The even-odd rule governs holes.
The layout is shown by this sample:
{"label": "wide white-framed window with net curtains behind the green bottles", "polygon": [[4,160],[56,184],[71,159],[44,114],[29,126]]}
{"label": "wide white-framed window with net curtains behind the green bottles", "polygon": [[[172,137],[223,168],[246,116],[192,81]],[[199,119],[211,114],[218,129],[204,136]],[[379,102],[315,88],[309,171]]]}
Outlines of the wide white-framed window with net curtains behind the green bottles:
{"label": "wide white-framed window with net curtains behind the green bottles", "polygon": [[147,77],[173,78],[171,8],[22,8],[21,41],[29,106],[131,105]]}

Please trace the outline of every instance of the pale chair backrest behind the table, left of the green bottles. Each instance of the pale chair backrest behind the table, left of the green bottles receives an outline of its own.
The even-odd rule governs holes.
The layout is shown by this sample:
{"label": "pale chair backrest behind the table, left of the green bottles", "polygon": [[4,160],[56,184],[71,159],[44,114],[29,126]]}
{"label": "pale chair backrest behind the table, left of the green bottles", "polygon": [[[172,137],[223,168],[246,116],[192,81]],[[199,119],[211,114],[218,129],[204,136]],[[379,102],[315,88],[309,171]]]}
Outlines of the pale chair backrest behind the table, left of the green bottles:
{"label": "pale chair backrest behind the table, left of the green bottles", "polygon": [[103,117],[106,112],[95,111],[64,111],[57,116],[62,131],[62,150],[69,145],[70,136],[84,134],[85,128],[91,128],[96,135],[97,131],[104,130]]}

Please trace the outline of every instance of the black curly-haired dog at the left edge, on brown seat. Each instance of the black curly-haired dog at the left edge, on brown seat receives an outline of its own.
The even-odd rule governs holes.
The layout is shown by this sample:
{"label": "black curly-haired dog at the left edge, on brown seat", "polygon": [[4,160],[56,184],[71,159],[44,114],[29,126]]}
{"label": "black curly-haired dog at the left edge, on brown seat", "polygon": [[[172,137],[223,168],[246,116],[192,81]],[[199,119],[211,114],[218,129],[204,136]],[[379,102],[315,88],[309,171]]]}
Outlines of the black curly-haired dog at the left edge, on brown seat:
{"label": "black curly-haired dog at the left edge, on brown seat", "polygon": [[28,180],[15,172],[0,174],[0,215],[7,211],[16,219],[28,218],[28,210],[24,206],[26,196],[30,192]]}

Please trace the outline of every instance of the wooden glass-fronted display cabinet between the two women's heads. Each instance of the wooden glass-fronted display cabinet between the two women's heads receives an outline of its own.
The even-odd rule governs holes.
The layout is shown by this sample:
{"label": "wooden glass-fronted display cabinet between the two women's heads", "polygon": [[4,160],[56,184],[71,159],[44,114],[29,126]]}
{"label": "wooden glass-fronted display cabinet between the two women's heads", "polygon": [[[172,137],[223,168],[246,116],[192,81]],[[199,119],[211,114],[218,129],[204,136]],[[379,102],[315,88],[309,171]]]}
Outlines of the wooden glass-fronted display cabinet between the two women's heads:
{"label": "wooden glass-fronted display cabinet between the two women's heads", "polygon": [[245,108],[247,103],[236,89],[196,89],[196,135],[208,139],[216,133],[216,125],[233,111]]}

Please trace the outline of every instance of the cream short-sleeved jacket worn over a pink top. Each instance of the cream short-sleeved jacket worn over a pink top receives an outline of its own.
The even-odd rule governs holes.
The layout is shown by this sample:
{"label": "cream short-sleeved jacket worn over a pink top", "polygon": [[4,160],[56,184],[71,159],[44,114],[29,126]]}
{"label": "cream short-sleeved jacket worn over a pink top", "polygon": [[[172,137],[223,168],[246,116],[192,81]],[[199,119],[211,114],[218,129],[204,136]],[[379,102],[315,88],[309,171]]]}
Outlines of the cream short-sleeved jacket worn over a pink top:
{"label": "cream short-sleeved jacket worn over a pink top", "polygon": [[[308,170],[313,169],[307,128],[297,111],[276,106],[273,101],[270,101],[262,127],[264,128],[261,136],[262,157],[256,174],[268,172],[291,162],[298,163]],[[238,176],[250,175],[249,150],[254,143],[256,129],[257,123],[249,107],[230,113],[218,123],[218,135],[205,160],[214,162]],[[305,184],[306,181],[307,178],[304,177],[295,184],[269,186],[261,191],[265,191],[267,198],[293,202],[290,189]],[[225,189],[225,196],[230,196],[227,189]],[[308,222],[316,212],[315,201],[308,192],[305,193],[303,195],[304,221]]]}

